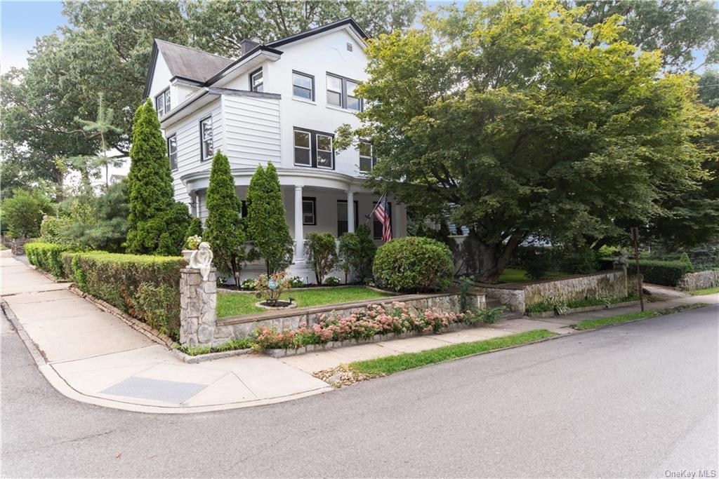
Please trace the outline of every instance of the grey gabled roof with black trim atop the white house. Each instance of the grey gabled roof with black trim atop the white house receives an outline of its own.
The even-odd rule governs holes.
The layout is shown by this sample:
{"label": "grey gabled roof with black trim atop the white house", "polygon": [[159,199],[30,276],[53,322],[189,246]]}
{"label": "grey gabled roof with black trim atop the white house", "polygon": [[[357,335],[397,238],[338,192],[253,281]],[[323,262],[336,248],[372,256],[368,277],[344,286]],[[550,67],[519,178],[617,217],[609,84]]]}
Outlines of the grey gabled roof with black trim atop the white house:
{"label": "grey gabled roof with black trim atop the white house", "polygon": [[275,55],[282,55],[282,52],[280,50],[276,50],[276,47],[288,45],[289,43],[297,42],[301,39],[344,26],[353,29],[354,33],[362,40],[369,38],[367,33],[365,33],[362,27],[359,27],[354,19],[346,18],[338,20],[337,22],[322,25],[321,27],[309,29],[306,32],[280,38],[273,42],[268,42],[265,45],[258,45],[241,57],[237,58],[237,60],[231,60],[229,58],[220,57],[219,55],[212,55],[211,53],[196,50],[191,47],[183,47],[183,45],[165,42],[165,40],[155,39],[155,42],[152,45],[152,56],[150,57],[150,71],[147,73],[147,79],[145,80],[144,97],[147,98],[150,94],[150,85],[152,85],[152,75],[155,74],[155,64],[157,62],[158,52],[162,52],[162,57],[165,59],[165,63],[167,63],[173,78],[190,80],[193,83],[197,83],[199,86],[209,86],[222,78],[223,74],[228,70],[232,70],[235,65],[239,65],[239,63],[244,62],[247,58],[252,57],[252,55],[255,55],[257,52],[268,52]]}

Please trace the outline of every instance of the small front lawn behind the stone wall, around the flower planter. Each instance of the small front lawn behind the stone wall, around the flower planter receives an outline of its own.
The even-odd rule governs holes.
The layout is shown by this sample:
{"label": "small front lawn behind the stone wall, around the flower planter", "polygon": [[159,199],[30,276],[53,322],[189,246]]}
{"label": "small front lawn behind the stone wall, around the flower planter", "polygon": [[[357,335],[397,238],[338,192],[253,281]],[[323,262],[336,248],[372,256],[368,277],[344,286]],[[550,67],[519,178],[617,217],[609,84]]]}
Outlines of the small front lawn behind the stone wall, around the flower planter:
{"label": "small front lawn behind the stone wall, around the flower planter", "polygon": [[[380,293],[364,286],[347,286],[318,289],[291,289],[284,292],[280,299],[294,298],[298,307],[321,306],[364,299],[388,297],[390,294]],[[217,297],[217,317],[249,315],[253,312],[266,312],[265,308],[255,306],[259,301],[254,293],[224,293]]]}

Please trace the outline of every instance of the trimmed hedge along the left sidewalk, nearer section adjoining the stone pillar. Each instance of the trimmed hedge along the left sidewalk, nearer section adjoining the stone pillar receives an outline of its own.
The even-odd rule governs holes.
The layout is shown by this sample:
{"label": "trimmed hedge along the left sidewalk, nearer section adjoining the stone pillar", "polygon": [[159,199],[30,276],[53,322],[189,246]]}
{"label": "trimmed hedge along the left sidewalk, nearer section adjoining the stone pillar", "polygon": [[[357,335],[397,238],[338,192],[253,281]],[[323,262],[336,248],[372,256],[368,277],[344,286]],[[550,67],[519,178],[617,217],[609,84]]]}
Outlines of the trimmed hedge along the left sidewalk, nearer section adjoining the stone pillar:
{"label": "trimmed hedge along the left sidewalk, nearer section adjoining the stone pillar", "polygon": [[109,302],[170,338],[179,338],[183,259],[101,251],[65,253],[62,259],[65,276],[83,292]]}

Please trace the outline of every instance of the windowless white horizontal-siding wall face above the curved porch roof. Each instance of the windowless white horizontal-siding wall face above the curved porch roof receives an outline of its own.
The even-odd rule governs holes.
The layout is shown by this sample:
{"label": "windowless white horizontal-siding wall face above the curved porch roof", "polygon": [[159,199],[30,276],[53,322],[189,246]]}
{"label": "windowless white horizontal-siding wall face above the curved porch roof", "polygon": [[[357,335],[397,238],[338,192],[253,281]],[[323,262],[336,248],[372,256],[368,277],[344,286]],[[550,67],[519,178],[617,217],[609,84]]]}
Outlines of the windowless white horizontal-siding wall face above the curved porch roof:
{"label": "windowless white horizontal-siding wall face above the curved porch roof", "polygon": [[280,101],[249,96],[222,97],[224,149],[232,167],[280,162]]}

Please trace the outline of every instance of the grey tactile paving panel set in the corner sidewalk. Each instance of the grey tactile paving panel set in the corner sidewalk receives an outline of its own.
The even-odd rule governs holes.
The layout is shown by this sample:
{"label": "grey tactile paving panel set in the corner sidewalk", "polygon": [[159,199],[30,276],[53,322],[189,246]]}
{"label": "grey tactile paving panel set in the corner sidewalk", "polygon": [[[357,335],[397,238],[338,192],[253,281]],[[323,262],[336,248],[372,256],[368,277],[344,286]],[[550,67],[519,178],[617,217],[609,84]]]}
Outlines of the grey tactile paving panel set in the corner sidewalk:
{"label": "grey tactile paving panel set in the corner sidewalk", "polygon": [[206,384],[162,381],[132,376],[101,391],[102,394],[127,396],[180,404],[207,387]]}

